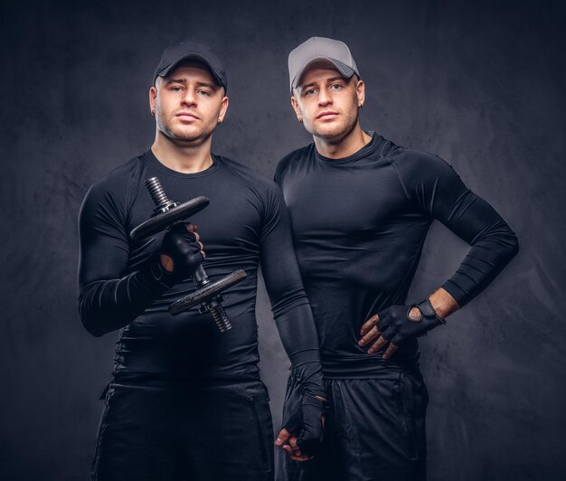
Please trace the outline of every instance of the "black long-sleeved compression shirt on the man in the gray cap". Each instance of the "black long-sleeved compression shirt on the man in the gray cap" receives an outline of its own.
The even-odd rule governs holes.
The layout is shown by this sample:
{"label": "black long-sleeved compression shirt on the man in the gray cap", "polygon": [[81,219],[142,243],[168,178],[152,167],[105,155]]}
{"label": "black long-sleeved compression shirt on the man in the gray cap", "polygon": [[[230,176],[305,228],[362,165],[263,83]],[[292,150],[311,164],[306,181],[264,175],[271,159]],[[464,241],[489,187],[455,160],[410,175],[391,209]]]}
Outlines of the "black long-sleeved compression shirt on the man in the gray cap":
{"label": "black long-sleeved compression shirt on the man in the gray cap", "polygon": [[416,366],[416,340],[387,362],[382,351],[370,356],[357,342],[370,316],[405,303],[433,219],[472,245],[442,286],[460,307],[486,288],[518,245],[450,165],[370,134],[369,144],[342,159],[319,155],[314,144],[298,149],[275,175],[291,214],[328,377],[373,377]]}

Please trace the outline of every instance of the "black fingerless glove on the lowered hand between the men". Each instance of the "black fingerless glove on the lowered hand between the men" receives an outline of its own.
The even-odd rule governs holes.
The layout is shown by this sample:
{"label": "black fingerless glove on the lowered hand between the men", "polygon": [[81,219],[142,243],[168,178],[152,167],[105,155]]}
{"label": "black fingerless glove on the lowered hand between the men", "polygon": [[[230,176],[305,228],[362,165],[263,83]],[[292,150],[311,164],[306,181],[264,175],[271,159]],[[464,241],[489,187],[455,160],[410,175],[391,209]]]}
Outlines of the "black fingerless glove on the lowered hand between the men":
{"label": "black fingerless glove on the lowered hand between the men", "polygon": [[300,408],[288,419],[283,428],[297,436],[297,446],[301,454],[315,456],[324,440],[325,429],[322,416],[328,403],[307,392],[303,393]]}

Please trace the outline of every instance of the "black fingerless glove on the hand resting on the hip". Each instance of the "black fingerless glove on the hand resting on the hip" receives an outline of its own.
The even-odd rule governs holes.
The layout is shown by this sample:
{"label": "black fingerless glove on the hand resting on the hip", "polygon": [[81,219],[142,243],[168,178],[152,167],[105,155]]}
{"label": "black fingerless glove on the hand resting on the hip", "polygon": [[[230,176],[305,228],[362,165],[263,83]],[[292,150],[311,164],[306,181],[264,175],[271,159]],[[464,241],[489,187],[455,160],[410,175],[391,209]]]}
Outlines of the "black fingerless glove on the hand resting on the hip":
{"label": "black fingerless glove on the hand resting on the hip", "polygon": [[[420,310],[419,319],[409,317],[412,307]],[[397,345],[406,339],[426,335],[437,325],[446,324],[446,321],[437,315],[428,298],[412,306],[391,306],[377,314],[377,328],[382,333],[382,338]]]}

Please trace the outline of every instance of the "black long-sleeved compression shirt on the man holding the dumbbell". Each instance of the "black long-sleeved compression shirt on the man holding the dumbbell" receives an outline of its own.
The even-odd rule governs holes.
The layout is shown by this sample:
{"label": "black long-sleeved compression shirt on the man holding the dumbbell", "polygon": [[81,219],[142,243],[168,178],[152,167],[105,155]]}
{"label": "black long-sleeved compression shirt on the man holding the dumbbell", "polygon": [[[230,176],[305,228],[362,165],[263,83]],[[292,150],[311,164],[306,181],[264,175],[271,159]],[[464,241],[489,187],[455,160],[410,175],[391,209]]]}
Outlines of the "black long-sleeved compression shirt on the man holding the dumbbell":
{"label": "black long-sleeved compression shirt on the man holding the dumbbell", "polygon": [[[132,241],[129,232],[154,210],[144,181],[157,176],[170,199],[199,195],[210,205],[193,215],[212,280],[244,269],[226,292],[231,330],[220,333],[198,307],[170,316],[167,307],[193,291],[192,279],[167,289],[153,277],[152,259],[164,232]],[[94,335],[118,328],[118,379],[182,380],[257,377],[255,302],[261,262],[281,340],[309,391],[321,392],[316,330],[293,250],[288,211],[277,185],[221,156],[198,174],[180,174],[151,150],[94,184],[80,210],[80,315]]]}

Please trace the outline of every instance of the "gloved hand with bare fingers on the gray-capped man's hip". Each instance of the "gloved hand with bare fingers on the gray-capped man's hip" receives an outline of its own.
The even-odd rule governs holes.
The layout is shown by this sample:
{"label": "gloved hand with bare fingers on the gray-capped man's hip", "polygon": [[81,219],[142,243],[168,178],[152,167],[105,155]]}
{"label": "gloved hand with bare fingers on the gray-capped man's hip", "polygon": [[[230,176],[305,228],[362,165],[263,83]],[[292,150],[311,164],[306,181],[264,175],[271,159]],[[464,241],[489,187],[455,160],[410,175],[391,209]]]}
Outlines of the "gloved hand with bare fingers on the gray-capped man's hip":
{"label": "gloved hand with bare fingers on the gray-capped man's hip", "polygon": [[370,317],[362,325],[362,339],[359,345],[367,345],[374,338],[377,341],[368,349],[368,354],[377,353],[385,344],[389,344],[383,353],[383,359],[389,359],[400,343],[407,339],[426,335],[430,329],[445,324],[429,299],[412,306],[391,306],[381,313]]}

